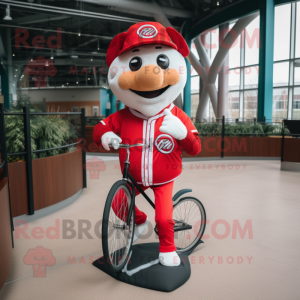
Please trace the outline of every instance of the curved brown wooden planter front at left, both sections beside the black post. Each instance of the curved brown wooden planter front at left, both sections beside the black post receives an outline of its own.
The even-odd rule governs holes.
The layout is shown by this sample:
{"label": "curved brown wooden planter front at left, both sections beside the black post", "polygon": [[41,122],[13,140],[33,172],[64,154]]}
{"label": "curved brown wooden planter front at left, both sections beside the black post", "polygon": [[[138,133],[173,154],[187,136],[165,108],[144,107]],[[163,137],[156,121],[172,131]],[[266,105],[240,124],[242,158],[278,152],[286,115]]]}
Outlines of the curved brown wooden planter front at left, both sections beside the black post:
{"label": "curved brown wooden planter front at left, both sections beside the black post", "polygon": [[[83,186],[82,150],[32,161],[34,209],[63,201]],[[26,163],[8,164],[12,216],[28,213]]]}

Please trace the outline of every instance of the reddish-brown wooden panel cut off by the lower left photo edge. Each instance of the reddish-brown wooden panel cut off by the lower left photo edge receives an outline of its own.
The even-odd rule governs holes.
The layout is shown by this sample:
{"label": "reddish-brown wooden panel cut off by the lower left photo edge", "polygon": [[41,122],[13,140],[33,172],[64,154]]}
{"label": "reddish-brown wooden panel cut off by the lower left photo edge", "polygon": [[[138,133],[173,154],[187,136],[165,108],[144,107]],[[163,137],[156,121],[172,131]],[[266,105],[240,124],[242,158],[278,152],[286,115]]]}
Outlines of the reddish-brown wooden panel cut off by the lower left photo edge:
{"label": "reddish-brown wooden panel cut off by the lower left photo edge", "polygon": [[0,290],[10,272],[13,260],[8,198],[8,181],[0,181]]}

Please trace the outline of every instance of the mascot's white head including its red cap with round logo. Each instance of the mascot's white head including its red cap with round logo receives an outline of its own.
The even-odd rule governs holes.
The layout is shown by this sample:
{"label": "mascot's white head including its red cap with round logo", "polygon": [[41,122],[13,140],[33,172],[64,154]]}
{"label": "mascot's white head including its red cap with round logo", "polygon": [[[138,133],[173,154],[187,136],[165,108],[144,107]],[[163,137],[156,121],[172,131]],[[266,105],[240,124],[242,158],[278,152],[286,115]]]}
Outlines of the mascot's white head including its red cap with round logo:
{"label": "mascot's white head including its red cap with round logo", "polygon": [[137,23],[109,45],[109,86],[126,106],[154,116],[183,90],[188,54],[184,38],[175,29],[156,22]]}

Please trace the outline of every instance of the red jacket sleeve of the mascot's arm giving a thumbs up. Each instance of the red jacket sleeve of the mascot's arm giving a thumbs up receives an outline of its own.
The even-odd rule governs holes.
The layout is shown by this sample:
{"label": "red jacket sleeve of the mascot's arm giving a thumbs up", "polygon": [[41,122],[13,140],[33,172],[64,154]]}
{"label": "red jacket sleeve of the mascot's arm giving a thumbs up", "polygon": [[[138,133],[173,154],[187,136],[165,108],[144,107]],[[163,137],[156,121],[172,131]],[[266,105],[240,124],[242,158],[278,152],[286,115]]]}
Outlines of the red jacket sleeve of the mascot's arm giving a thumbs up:
{"label": "red jacket sleeve of the mascot's arm giving a thumbs up", "polygon": [[177,141],[179,146],[189,155],[197,155],[201,151],[201,141],[198,136],[198,130],[189,118],[189,116],[178,109],[177,117],[182,121],[187,129],[187,136],[183,140]]}

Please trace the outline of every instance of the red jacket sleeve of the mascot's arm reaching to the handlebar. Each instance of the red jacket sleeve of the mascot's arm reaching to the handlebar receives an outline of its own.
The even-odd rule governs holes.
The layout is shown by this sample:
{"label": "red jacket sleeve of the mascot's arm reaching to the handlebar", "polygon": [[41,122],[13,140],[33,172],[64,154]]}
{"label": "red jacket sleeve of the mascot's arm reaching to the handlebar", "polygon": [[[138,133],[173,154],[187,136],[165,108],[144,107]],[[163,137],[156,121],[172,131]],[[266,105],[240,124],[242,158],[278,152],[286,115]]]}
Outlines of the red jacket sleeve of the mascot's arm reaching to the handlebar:
{"label": "red jacket sleeve of the mascot's arm reaching to the handlebar", "polygon": [[121,111],[117,111],[110,115],[106,119],[100,121],[93,130],[93,140],[98,145],[101,146],[101,137],[106,132],[112,131],[115,134],[120,134],[122,123]]}

